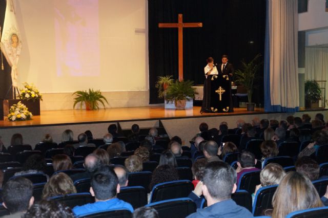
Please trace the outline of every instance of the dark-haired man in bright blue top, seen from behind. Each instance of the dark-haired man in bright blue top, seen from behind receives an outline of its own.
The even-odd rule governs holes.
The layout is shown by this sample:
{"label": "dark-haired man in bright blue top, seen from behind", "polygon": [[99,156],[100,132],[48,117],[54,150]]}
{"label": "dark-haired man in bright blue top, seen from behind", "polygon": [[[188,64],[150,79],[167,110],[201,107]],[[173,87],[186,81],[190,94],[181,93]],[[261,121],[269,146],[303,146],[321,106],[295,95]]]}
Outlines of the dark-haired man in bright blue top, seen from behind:
{"label": "dark-haired man in bright blue top, seen from behind", "polygon": [[74,207],[74,214],[79,216],[84,213],[96,213],[100,210],[118,208],[133,212],[131,204],[116,198],[119,189],[120,186],[114,170],[108,165],[99,167],[91,178],[90,193],[95,198],[95,203]]}

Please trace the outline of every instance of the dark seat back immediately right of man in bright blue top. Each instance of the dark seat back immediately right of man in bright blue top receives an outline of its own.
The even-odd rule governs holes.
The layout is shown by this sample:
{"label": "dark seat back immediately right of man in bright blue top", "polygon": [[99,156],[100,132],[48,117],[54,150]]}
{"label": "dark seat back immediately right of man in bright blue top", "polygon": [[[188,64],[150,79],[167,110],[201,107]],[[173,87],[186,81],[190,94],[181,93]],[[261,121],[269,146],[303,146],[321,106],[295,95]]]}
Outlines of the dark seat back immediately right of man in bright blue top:
{"label": "dark seat back immediately right of man in bright blue top", "polygon": [[134,209],[147,204],[147,191],[142,186],[122,187],[117,193],[117,198],[128,202]]}

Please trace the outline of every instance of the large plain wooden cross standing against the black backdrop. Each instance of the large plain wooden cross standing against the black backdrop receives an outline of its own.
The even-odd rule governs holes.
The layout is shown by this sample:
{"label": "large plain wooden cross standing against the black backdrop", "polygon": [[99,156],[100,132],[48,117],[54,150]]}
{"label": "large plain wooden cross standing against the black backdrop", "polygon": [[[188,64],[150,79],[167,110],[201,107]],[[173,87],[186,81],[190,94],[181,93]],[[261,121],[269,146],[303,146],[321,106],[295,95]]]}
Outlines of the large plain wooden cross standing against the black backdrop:
{"label": "large plain wooden cross standing against the black backdrop", "polygon": [[186,27],[202,27],[202,23],[183,23],[182,14],[178,15],[178,23],[159,23],[159,28],[178,28],[178,51],[179,51],[179,81],[183,80],[183,37],[182,29]]}

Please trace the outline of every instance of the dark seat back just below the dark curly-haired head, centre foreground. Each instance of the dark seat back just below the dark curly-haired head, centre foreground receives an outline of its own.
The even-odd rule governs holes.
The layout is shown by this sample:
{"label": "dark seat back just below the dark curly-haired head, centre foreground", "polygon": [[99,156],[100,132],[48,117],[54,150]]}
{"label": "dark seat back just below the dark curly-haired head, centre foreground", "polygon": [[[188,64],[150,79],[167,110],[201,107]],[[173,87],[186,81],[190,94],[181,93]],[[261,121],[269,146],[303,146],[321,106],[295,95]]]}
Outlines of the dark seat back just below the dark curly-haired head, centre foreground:
{"label": "dark seat back just below the dark curly-haired head, centre foreground", "polygon": [[168,199],[186,198],[193,189],[194,185],[189,180],[159,183],[152,189],[150,203]]}

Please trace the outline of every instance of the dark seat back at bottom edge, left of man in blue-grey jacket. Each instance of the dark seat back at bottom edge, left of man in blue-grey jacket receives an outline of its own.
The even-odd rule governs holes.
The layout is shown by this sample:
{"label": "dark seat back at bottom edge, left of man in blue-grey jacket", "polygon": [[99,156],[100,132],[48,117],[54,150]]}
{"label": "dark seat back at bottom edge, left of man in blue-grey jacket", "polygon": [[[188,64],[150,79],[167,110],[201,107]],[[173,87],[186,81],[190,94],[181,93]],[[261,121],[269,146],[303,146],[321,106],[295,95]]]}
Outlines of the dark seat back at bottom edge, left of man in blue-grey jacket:
{"label": "dark seat back at bottom edge, left of man in blue-grey jacket", "polygon": [[152,207],[159,217],[186,217],[196,212],[196,204],[189,198],[170,199],[146,205]]}

